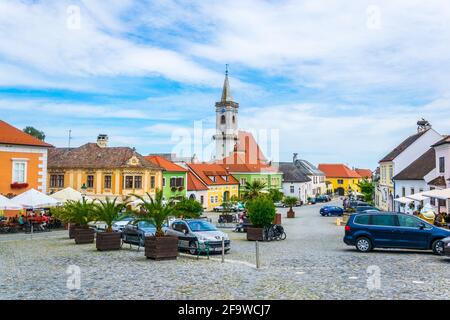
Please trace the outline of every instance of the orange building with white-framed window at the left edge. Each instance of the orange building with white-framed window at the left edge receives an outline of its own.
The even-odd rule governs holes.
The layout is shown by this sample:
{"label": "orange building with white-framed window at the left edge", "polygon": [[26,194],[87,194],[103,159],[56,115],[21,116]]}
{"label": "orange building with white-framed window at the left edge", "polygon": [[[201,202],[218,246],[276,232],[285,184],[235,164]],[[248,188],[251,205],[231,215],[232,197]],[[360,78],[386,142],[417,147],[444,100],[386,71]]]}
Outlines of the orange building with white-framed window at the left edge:
{"label": "orange building with white-framed window at the left edge", "polygon": [[47,154],[53,146],[0,120],[0,193],[47,191]]}

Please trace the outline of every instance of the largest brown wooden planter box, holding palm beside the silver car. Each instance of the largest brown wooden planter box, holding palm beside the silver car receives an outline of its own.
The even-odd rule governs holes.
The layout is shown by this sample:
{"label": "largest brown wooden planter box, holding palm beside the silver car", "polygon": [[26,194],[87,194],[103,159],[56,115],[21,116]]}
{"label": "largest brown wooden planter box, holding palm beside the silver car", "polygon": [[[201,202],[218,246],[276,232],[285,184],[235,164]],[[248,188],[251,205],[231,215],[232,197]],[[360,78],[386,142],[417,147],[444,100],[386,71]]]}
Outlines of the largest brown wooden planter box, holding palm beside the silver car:
{"label": "largest brown wooden planter box, holding palm beside the silver car", "polygon": [[153,260],[175,260],[178,256],[177,237],[145,238],[145,256]]}

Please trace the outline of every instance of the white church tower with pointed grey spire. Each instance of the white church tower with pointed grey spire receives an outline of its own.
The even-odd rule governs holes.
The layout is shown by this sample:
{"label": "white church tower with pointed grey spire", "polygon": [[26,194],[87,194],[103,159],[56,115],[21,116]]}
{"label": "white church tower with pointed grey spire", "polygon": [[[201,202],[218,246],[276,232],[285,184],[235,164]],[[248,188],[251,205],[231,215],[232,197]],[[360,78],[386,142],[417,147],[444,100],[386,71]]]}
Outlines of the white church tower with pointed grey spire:
{"label": "white church tower with pointed grey spire", "polygon": [[238,140],[239,103],[233,101],[228,80],[228,65],[225,71],[222,98],[216,102],[216,159],[222,160],[233,151]]}

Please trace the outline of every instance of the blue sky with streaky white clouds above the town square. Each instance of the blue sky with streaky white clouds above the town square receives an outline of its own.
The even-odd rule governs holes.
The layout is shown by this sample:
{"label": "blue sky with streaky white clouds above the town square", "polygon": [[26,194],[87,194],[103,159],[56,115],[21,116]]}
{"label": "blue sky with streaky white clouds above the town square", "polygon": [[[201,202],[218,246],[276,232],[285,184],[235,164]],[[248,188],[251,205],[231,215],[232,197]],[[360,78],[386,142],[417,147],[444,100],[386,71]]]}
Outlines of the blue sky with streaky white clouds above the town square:
{"label": "blue sky with streaky white clouds above the town square", "polygon": [[57,147],[209,145],[225,64],[270,159],[375,169],[422,117],[450,134],[447,0],[1,0],[0,39],[0,119]]}

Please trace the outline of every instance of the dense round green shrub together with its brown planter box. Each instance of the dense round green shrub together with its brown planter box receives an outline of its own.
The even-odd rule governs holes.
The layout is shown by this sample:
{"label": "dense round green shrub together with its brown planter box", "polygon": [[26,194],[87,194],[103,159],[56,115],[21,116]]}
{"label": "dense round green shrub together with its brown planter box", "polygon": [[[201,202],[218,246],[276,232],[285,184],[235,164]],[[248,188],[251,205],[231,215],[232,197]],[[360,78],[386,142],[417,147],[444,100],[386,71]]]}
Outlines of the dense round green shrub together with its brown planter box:
{"label": "dense round green shrub together with its brown planter box", "polygon": [[265,230],[275,218],[275,205],[268,197],[259,196],[246,204],[248,217],[252,223],[247,228],[247,240],[264,241]]}

